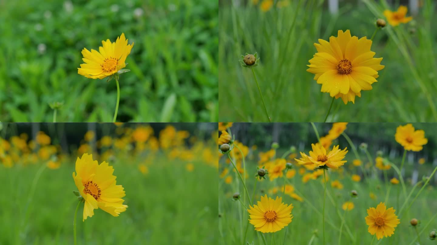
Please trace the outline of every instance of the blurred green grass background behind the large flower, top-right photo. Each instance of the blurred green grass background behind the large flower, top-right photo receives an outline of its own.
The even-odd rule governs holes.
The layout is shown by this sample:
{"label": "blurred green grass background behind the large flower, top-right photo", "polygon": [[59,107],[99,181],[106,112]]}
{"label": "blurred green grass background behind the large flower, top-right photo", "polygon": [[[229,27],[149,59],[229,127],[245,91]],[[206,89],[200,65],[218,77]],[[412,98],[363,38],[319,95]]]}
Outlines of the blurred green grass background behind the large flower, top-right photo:
{"label": "blurred green grass background behind the large flower, top-right photo", "polygon": [[[254,4],[257,2],[256,4]],[[219,121],[267,121],[253,74],[240,66],[241,54],[258,53],[254,68],[273,122],[321,122],[332,98],[320,92],[306,71],[314,43],[338,30],[368,38],[383,10],[397,10],[407,0],[339,0],[331,14],[327,0],[223,0],[219,6]],[[388,1],[387,1],[388,2]],[[413,20],[379,31],[371,47],[385,68],[370,91],[355,104],[336,99],[328,122],[436,122],[436,1],[419,1]],[[299,5],[300,4],[300,5]],[[407,16],[411,16],[409,9]]]}

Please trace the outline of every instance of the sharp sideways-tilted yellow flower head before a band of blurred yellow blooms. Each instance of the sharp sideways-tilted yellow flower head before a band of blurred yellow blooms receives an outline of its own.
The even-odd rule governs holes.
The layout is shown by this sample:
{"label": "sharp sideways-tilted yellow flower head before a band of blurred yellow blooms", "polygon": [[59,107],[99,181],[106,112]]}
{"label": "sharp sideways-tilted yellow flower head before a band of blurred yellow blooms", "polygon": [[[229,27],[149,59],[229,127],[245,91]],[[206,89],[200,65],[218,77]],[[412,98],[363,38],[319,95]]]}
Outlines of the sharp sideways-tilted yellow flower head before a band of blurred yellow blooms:
{"label": "sharp sideways-tilted yellow flower head before a band of blurred yellow blooms", "polygon": [[76,160],[76,173],[73,172],[74,183],[85,200],[83,221],[94,215],[94,209],[101,208],[112,216],[126,211],[127,205],[121,197],[125,196],[124,188],[116,184],[112,173],[113,167],[108,163],[99,164],[93,161],[93,155],[83,154]]}

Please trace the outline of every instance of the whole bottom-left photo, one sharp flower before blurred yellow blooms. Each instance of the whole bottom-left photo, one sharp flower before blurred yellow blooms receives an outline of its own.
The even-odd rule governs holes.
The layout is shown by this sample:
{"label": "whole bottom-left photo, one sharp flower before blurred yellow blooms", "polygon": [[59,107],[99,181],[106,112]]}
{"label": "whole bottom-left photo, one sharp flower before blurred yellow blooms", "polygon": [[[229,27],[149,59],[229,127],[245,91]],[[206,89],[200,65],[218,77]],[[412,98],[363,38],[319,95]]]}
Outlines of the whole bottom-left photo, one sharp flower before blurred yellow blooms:
{"label": "whole bottom-left photo, one sharp flower before blurred yellow blooms", "polygon": [[216,123],[0,126],[0,244],[217,244]]}

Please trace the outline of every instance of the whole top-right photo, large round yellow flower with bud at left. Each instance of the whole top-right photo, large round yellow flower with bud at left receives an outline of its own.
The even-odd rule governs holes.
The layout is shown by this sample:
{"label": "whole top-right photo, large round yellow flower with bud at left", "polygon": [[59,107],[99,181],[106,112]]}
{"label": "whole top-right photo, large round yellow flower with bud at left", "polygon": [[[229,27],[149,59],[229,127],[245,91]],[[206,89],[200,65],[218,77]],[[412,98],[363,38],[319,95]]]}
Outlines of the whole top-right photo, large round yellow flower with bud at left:
{"label": "whole top-right photo, large round yellow flower with bud at left", "polygon": [[436,3],[221,1],[220,121],[436,122]]}

